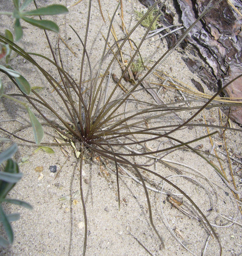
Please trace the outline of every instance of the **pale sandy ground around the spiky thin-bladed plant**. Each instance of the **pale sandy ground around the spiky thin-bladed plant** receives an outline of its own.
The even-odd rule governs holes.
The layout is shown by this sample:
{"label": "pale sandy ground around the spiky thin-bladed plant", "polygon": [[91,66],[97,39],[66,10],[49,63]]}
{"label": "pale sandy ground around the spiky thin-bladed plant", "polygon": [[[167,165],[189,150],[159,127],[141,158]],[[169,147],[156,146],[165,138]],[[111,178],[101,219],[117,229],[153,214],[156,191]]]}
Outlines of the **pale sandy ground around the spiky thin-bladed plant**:
{"label": "pale sandy ground around the spiky thin-bladed plant", "polygon": [[[8,9],[9,1],[2,1],[3,9]],[[45,5],[47,1],[39,1],[40,5]],[[62,0],[53,1],[61,3],[66,6],[71,6],[76,0]],[[117,6],[116,1],[103,0],[102,9],[104,17],[108,20],[108,13],[112,16],[114,9]],[[135,11],[144,9],[144,7],[137,1],[123,1],[124,18],[127,30],[137,22]],[[55,21],[60,25],[61,37],[65,39],[68,45],[74,49],[77,57],[74,57],[66,46],[61,44],[61,49],[64,55],[62,58],[69,73],[78,79],[78,70],[80,66],[82,48],[71,31],[69,24],[77,29],[80,37],[84,38],[86,27],[86,10],[88,1],[83,0],[78,5],[69,8],[69,14],[65,16],[58,16]],[[168,8],[172,9],[172,5],[168,4]],[[106,22],[108,24],[108,22]],[[114,20],[114,27],[117,31],[118,38],[124,37],[120,30],[120,18],[117,16]],[[9,26],[9,19],[2,19],[0,30]],[[43,32],[39,29],[34,29],[28,24],[23,23],[24,38],[20,44],[26,51],[35,51],[51,57],[47,42],[44,39]],[[92,3],[92,14],[88,37],[87,51],[90,54],[90,60],[95,70],[96,64],[104,46],[104,39],[101,32],[106,35],[108,25],[104,24],[101,17],[98,2]],[[140,35],[143,35],[145,29],[138,27],[132,39],[134,41],[140,40]],[[51,34],[52,42],[57,46],[57,38]],[[166,50],[166,42],[156,41],[158,37],[151,38],[145,41],[141,49],[141,54],[144,59],[157,60]],[[110,40],[112,41],[112,40]],[[124,52],[124,58],[128,58],[130,49]],[[199,78],[190,73],[187,66],[181,59],[181,51],[175,51],[164,64],[160,67],[164,72],[169,73],[174,78],[181,82],[186,82],[192,86],[191,78],[199,81]],[[39,76],[36,69],[24,62],[22,58],[17,57],[14,60],[17,70],[23,74],[31,83],[32,86],[45,86],[46,81]],[[44,63],[43,63],[44,64]],[[45,66],[46,70],[52,69],[48,64]],[[117,70],[117,74],[120,71]],[[13,85],[6,82],[9,90],[13,90]],[[204,86],[206,90],[206,86]],[[160,94],[162,100],[166,102],[174,101],[181,97],[179,93],[164,91]],[[45,97],[56,101],[58,105],[60,102],[54,93],[49,88],[46,88]],[[149,94],[144,94],[145,99],[149,99]],[[3,103],[3,104],[2,104]],[[61,106],[58,105],[60,108]],[[0,120],[17,119],[23,123],[28,123],[25,110],[19,109],[16,104],[2,100],[0,105]],[[218,123],[217,110],[205,110],[207,119],[215,119]],[[45,113],[48,115],[48,113]],[[191,113],[181,113],[181,118],[186,118]],[[202,118],[200,114],[198,119]],[[173,119],[175,119],[173,117]],[[166,120],[168,123],[169,120]],[[213,120],[211,121],[213,122]],[[2,124],[4,127],[14,130],[19,127],[17,122],[8,122]],[[236,124],[233,124],[237,127]],[[45,128],[44,141],[52,140],[52,136],[56,136],[54,131]],[[33,137],[31,129],[24,131],[25,137]],[[204,128],[193,128],[189,132],[177,133],[177,137],[182,137],[183,140],[190,140],[199,135],[206,134]],[[240,133],[226,132],[227,144],[231,155],[233,153],[240,155],[242,153],[242,137]],[[213,137],[216,150],[225,152],[223,140],[221,138]],[[22,157],[29,156],[36,149],[36,146],[26,145],[24,142],[15,140],[18,143],[19,150],[16,154],[17,161],[21,161]],[[212,149],[209,139],[197,142],[196,145],[203,144],[203,150],[210,151]],[[194,145],[194,146],[196,146]],[[221,146],[222,145],[222,146]],[[156,146],[156,145],[150,145]],[[8,249],[1,250],[1,255],[81,255],[84,240],[84,217],[80,201],[80,196],[75,196],[75,192],[79,189],[79,160],[75,157],[74,152],[70,149],[69,156],[65,156],[61,152],[60,147],[53,147],[55,154],[47,154],[39,151],[35,155],[29,157],[28,162],[21,165],[21,172],[24,174],[21,182],[19,182],[14,190],[10,193],[10,198],[17,198],[29,202],[34,209],[26,210],[19,207],[6,205],[7,212],[21,212],[21,219],[14,222],[13,229],[15,231],[14,244]],[[229,176],[229,167],[224,155],[219,155],[222,158],[223,166],[226,174]],[[161,243],[152,229],[149,218],[146,197],[143,187],[133,179],[121,177],[120,191],[121,191],[121,209],[118,209],[118,201],[116,196],[116,177],[112,173],[114,169],[112,163],[103,165],[100,159],[95,155],[92,159],[88,159],[88,154],[84,161],[84,194],[86,202],[86,211],[88,219],[88,236],[86,255],[148,255],[147,250],[152,255],[201,255],[205,244],[205,255],[218,255],[219,247],[216,239],[209,237],[208,232],[203,227],[201,222],[196,219],[191,219],[184,215],[180,210],[177,210],[167,200],[167,196],[160,196],[159,193],[149,191],[149,196],[152,204],[153,218],[157,230],[164,239],[165,247],[160,247]],[[242,236],[241,227],[233,224],[221,217],[221,214],[226,216],[237,216],[237,207],[233,200],[233,195],[226,188],[215,171],[199,156],[186,151],[179,150],[166,157],[169,161],[179,162],[180,164],[190,166],[193,169],[179,166],[190,178],[196,179],[202,186],[196,186],[188,180],[182,179],[180,176],[171,177],[171,180],[179,185],[185,192],[187,192],[192,199],[199,205],[201,210],[206,214],[209,213],[211,205],[214,205],[214,210],[209,216],[209,221],[215,227],[216,233],[221,241],[223,247],[223,255],[241,255],[242,254]],[[239,160],[239,159],[238,159]],[[213,158],[216,165],[216,159]],[[168,162],[167,162],[168,163]],[[233,172],[241,168],[241,164],[233,162]],[[50,166],[56,165],[57,171],[60,171],[58,177],[56,174],[50,172]],[[43,166],[43,171],[38,173],[35,171],[36,167]],[[195,174],[194,169],[199,170],[203,175],[209,179],[207,182],[204,178]],[[172,173],[164,165],[158,165],[158,172],[164,176],[169,176]],[[241,169],[239,169],[241,170]],[[240,174],[240,173],[239,173]],[[106,175],[106,179],[104,178]],[[235,177],[236,182],[239,182],[240,177]],[[229,180],[230,180],[229,176]],[[217,194],[215,190],[217,191]],[[168,189],[167,185],[165,188]],[[61,198],[72,195],[71,200],[66,197],[66,200]],[[209,201],[210,200],[210,201]],[[236,219],[242,222],[241,214],[238,214]],[[174,238],[173,234],[183,242],[183,245],[189,248],[190,252],[182,247],[182,245]],[[143,244],[142,247],[139,243]],[[206,241],[208,241],[206,243]]]}

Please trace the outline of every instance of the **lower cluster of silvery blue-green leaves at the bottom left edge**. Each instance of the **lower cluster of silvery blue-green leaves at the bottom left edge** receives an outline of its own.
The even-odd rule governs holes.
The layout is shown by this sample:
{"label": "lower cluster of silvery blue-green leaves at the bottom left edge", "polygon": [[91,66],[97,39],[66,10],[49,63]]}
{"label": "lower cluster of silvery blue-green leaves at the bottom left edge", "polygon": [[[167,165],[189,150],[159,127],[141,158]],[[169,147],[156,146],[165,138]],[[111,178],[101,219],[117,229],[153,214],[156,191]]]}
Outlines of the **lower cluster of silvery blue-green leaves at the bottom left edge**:
{"label": "lower cluster of silvery blue-green leaves at the bottom left edge", "polygon": [[[0,137],[0,143],[9,142],[9,139]],[[13,189],[15,184],[22,178],[17,163],[11,158],[17,151],[17,145],[14,143],[6,150],[0,153],[0,222],[6,231],[7,238],[0,237],[0,246],[8,247],[13,243],[14,234],[10,222],[20,218],[18,213],[6,214],[2,203],[11,203],[32,209],[32,206],[24,201],[17,199],[8,199],[6,196]]]}

